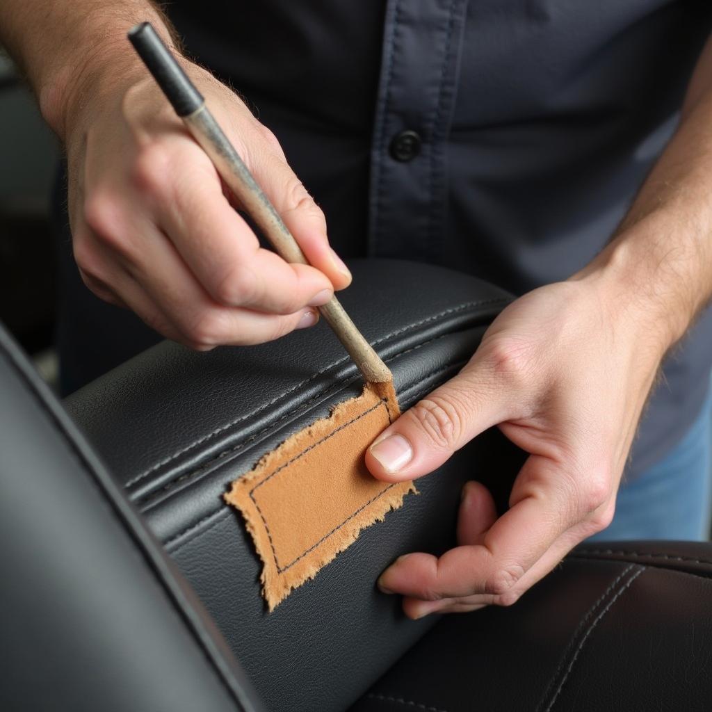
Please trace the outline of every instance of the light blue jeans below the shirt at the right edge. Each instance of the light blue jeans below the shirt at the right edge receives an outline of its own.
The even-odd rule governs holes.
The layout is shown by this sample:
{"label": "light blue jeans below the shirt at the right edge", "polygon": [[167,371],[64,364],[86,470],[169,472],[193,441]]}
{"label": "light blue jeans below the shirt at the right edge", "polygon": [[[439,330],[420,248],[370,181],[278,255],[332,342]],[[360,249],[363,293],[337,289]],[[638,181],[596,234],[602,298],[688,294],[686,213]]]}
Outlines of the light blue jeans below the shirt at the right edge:
{"label": "light blue jeans below the shirt at the right edge", "polygon": [[588,541],[708,540],[712,511],[712,394],[684,438],[618,493],[611,525]]}

